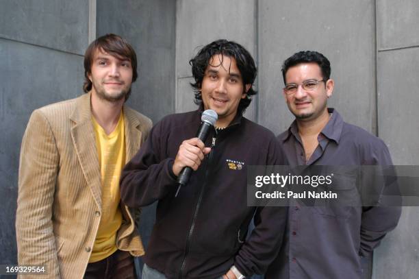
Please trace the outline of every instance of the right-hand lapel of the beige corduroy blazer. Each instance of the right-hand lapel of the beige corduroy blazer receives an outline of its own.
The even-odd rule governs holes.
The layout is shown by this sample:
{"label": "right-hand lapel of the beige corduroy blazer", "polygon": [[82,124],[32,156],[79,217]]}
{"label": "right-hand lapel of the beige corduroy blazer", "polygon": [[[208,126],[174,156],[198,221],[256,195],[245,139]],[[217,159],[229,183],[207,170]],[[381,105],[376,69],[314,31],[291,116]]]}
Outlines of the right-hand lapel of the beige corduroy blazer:
{"label": "right-hand lapel of the beige corduroy blazer", "polygon": [[135,113],[124,106],[125,121],[125,163],[129,162],[140,149],[142,132],[140,131],[140,121]]}

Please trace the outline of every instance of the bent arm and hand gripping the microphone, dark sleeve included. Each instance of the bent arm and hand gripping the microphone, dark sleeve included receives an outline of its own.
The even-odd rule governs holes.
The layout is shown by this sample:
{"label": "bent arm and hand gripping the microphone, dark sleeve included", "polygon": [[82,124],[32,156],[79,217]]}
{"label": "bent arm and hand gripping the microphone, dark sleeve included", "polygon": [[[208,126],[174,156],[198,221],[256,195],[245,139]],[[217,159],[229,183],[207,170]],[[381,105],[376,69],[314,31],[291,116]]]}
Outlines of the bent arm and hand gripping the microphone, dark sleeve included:
{"label": "bent arm and hand gripping the microphone, dark sleeve included", "polygon": [[183,141],[175,159],[170,158],[162,122],[150,132],[138,154],[123,169],[120,197],[129,207],[147,206],[176,190],[177,175],[183,167],[198,169],[204,154],[210,152],[198,138]]}

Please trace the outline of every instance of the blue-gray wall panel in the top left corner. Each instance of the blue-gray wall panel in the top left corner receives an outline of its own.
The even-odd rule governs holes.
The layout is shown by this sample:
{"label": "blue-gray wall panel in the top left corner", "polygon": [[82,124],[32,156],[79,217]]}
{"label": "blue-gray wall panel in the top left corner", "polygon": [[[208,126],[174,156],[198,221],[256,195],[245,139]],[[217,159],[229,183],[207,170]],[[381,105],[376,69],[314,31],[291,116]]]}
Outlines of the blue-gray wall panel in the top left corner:
{"label": "blue-gray wall panel in the top left corner", "polygon": [[86,0],[1,1],[0,37],[84,54],[88,12]]}

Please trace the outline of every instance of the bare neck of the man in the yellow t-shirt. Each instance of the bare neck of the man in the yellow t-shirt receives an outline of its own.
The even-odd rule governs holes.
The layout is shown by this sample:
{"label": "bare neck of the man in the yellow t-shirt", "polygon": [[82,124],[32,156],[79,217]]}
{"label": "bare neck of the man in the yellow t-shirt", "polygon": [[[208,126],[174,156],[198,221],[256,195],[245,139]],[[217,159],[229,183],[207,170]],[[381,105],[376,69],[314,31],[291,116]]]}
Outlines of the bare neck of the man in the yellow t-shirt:
{"label": "bare neck of the man in the yellow t-shirt", "polygon": [[110,102],[92,93],[90,104],[93,117],[101,125],[103,130],[105,130],[106,134],[110,134],[118,124],[124,101],[122,99],[120,101]]}

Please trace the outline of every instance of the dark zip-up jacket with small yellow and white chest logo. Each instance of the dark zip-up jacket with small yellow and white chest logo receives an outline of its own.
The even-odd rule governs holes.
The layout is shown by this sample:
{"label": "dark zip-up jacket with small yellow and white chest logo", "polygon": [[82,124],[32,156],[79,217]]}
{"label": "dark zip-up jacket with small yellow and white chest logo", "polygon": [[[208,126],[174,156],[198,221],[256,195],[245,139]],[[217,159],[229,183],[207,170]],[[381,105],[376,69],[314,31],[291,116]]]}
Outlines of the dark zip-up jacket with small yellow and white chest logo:
{"label": "dark zip-up jacket with small yellow and white chest logo", "polygon": [[[199,110],[165,117],[123,170],[125,204],[158,200],[144,262],[168,278],[217,278],[231,265],[244,276],[263,274],[281,245],[288,209],[247,206],[247,167],[283,165],[279,142],[266,128],[236,116],[225,130],[212,131],[205,143],[210,154],[175,197],[175,156],[200,124]],[[255,229],[246,239],[253,215]]]}

